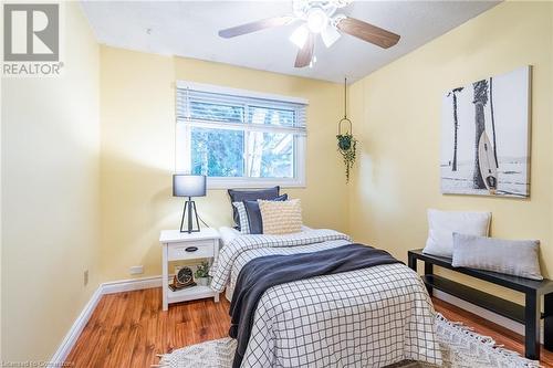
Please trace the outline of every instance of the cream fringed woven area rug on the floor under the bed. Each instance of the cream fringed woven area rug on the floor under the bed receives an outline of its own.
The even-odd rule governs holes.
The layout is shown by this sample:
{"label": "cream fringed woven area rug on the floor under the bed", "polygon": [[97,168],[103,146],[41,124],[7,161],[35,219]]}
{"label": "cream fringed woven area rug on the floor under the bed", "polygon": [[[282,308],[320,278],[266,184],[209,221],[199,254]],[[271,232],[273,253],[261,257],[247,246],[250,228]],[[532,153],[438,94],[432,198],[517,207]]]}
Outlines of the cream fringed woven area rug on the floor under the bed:
{"label": "cream fringed woven area rug on the floor under the bed", "polygon": [[[538,361],[498,346],[491,337],[478,335],[459,323],[436,317],[444,366],[447,368],[538,368]],[[226,337],[187,346],[160,356],[157,367],[229,368],[232,366],[236,340]],[[394,367],[429,367],[417,362],[400,362]]]}

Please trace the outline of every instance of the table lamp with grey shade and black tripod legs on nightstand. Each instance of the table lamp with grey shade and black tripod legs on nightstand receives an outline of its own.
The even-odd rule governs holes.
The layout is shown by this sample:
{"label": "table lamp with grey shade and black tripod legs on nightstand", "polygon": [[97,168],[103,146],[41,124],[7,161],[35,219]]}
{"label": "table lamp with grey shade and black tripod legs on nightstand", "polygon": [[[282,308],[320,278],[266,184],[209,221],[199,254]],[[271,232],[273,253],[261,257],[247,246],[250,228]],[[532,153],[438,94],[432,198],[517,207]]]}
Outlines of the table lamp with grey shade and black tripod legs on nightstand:
{"label": "table lamp with grey shade and black tripod legs on nightstand", "polygon": [[[180,220],[180,232],[191,233],[200,231],[198,211],[196,210],[192,197],[206,197],[206,176],[175,174],[173,176],[173,197],[188,197],[185,201],[182,219]],[[187,218],[188,229],[182,229],[185,218]],[[196,228],[194,228],[194,220],[196,220]]]}

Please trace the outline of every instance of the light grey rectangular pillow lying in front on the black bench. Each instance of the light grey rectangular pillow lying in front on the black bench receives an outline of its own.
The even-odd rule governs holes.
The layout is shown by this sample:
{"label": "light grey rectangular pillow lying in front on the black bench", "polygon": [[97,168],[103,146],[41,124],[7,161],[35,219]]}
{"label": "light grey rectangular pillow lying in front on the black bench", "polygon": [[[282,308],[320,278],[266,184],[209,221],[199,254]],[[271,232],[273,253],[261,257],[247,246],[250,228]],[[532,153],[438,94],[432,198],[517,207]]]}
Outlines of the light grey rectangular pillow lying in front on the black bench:
{"label": "light grey rectangular pillow lying in front on the black bench", "polygon": [[538,259],[539,248],[538,240],[503,240],[453,233],[452,265],[543,280]]}

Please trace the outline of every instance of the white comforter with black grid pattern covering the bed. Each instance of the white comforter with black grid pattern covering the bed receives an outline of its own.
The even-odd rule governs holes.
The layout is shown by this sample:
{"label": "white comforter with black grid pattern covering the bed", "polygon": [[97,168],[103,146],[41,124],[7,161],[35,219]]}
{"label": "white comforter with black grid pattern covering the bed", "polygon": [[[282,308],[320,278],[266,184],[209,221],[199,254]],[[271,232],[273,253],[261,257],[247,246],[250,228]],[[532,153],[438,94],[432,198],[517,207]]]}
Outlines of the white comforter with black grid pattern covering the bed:
{"label": "white comforter with black grid pattern covering the bed", "polygon": [[[332,230],[237,236],[211,269],[212,287],[233,288],[241,267],[259,256],[347,243]],[[242,367],[384,367],[405,359],[441,364],[435,312],[417,274],[389,264],[269,288]]]}

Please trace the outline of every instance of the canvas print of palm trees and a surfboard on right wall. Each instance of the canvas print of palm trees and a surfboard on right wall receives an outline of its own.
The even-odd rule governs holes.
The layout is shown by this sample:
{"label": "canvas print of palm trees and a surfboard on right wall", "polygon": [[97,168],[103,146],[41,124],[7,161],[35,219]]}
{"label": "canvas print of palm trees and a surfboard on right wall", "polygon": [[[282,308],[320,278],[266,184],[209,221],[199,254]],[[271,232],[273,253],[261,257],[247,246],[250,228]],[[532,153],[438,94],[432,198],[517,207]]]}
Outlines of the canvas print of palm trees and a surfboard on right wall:
{"label": "canvas print of palm trees and a surfboard on right wall", "polygon": [[451,85],[442,95],[441,192],[529,198],[530,106],[530,66]]}

